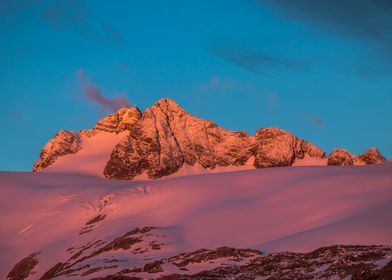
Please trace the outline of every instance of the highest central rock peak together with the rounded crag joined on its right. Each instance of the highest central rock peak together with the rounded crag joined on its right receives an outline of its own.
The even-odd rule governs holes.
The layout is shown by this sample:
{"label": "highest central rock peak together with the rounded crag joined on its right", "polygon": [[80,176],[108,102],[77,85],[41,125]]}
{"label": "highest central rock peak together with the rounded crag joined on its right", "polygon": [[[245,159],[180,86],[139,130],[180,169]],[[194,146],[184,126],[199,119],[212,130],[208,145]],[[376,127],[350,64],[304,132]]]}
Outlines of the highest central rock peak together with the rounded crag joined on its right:
{"label": "highest central rock peak together with the rounded crag joined on its right", "polygon": [[175,173],[183,164],[204,168],[244,165],[252,156],[257,168],[290,166],[305,155],[324,157],[318,147],[277,129],[260,129],[254,136],[223,129],[194,117],[170,99],[162,99],[114,149],[104,175],[132,179],[146,172],[150,178]]}

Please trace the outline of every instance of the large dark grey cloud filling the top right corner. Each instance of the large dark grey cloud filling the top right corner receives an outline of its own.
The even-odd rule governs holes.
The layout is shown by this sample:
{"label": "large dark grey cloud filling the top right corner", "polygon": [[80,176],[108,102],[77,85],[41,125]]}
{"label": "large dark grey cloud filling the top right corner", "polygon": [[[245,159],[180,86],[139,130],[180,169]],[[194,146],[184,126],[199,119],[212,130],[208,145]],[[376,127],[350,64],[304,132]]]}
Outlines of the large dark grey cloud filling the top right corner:
{"label": "large dark grey cloud filling the top right corner", "polygon": [[258,0],[319,31],[377,44],[392,59],[391,0]]}

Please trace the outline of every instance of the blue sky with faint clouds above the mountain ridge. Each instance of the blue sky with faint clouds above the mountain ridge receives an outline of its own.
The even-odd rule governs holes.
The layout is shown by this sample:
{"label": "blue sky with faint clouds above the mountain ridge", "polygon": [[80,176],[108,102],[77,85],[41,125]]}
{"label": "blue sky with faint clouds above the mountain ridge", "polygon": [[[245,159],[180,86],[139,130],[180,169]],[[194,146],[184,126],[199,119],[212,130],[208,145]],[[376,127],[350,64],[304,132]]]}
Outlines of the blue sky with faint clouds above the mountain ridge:
{"label": "blue sky with faint clouds above the mountain ridge", "polygon": [[1,0],[0,170],[30,170],[121,96],[391,158],[391,26],[389,0]]}

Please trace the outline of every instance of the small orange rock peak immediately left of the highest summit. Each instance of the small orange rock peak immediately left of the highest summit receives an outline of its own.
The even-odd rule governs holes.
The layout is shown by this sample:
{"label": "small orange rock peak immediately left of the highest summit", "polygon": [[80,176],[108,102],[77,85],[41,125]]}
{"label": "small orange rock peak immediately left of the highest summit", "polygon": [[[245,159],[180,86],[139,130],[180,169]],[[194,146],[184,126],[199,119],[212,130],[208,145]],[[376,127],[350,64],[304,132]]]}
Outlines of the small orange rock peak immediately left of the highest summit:
{"label": "small orange rock peak immediately left of the highest summit", "polygon": [[129,130],[141,118],[142,113],[137,107],[122,108],[97,122],[94,130],[119,133]]}

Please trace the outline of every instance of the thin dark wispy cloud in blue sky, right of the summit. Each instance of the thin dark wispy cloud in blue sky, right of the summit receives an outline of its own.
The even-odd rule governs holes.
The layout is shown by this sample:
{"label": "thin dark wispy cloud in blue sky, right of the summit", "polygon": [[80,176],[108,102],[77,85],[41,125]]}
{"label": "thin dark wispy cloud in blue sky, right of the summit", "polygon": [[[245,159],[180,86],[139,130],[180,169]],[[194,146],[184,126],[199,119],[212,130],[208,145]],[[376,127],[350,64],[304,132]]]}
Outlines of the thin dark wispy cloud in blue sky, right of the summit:
{"label": "thin dark wispy cloud in blue sky, right of the summit", "polygon": [[289,58],[274,56],[263,51],[236,46],[219,46],[212,50],[217,57],[244,70],[262,76],[273,76],[273,70],[285,69],[297,71],[301,62]]}

